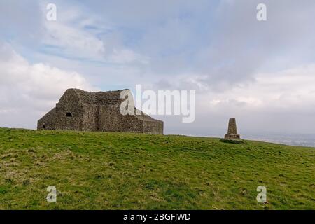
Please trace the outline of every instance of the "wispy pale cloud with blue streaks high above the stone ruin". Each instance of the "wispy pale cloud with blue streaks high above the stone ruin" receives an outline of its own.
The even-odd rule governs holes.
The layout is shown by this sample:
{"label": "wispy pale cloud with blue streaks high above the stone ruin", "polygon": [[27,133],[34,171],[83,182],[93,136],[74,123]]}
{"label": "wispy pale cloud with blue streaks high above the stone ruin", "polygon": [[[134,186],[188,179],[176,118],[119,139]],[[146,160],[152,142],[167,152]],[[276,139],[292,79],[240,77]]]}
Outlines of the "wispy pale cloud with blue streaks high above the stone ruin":
{"label": "wispy pale cloud with blue streaks high above the stone ruin", "polygon": [[121,40],[110,41],[117,29],[111,22],[86,13],[83,8],[59,1],[57,20],[45,20],[43,24],[45,35],[41,42],[44,50],[59,57],[110,64],[148,64],[147,57],[125,47]]}

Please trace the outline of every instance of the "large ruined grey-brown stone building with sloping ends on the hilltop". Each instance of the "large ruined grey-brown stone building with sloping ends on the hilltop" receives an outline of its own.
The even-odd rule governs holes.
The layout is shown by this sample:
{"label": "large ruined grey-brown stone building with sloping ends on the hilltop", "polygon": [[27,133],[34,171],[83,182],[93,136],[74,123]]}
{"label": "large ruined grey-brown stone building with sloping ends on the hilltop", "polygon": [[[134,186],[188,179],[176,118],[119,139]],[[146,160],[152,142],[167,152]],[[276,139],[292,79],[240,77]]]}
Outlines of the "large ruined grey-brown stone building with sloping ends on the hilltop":
{"label": "large ruined grey-brown stone building with sloping ends on the hilltop", "polygon": [[140,115],[120,113],[120,104],[126,100],[120,99],[122,91],[66,90],[56,107],[38,120],[37,129],[163,134],[161,120],[141,111]]}

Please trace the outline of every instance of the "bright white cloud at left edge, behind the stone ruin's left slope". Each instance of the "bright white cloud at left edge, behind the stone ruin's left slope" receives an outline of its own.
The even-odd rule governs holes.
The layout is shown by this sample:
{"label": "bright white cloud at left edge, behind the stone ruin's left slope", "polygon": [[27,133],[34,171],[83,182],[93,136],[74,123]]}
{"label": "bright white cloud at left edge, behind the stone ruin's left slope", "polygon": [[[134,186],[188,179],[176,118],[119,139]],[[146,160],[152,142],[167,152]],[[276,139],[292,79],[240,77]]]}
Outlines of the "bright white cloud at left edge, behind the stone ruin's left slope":
{"label": "bright white cloud at left edge, behind the stone ruin's left slope", "polygon": [[36,120],[72,87],[95,90],[83,75],[48,64],[30,64],[10,45],[0,44],[0,126],[36,127]]}

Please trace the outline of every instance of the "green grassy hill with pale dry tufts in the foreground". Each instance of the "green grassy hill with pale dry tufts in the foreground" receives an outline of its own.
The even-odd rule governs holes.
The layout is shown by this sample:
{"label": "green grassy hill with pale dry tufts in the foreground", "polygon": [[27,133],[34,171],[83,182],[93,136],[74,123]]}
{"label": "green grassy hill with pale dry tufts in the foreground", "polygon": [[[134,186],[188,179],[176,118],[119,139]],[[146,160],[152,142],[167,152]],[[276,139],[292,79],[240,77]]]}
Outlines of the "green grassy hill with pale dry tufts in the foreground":
{"label": "green grassy hill with pale dry tufts in the foreground", "polygon": [[0,209],[315,209],[314,164],[258,141],[1,128]]}

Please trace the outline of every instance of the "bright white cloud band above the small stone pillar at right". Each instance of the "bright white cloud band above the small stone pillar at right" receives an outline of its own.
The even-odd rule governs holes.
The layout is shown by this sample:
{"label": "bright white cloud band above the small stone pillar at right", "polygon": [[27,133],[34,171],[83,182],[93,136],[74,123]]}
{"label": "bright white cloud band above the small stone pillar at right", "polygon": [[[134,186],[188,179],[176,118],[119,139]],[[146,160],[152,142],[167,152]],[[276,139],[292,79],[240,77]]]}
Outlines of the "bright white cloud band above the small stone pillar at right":
{"label": "bright white cloud band above the small stone pillar at right", "polygon": [[238,102],[247,109],[311,109],[315,105],[315,64],[272,73],[258,73],[255,81],[213,93],[211,104]]}

